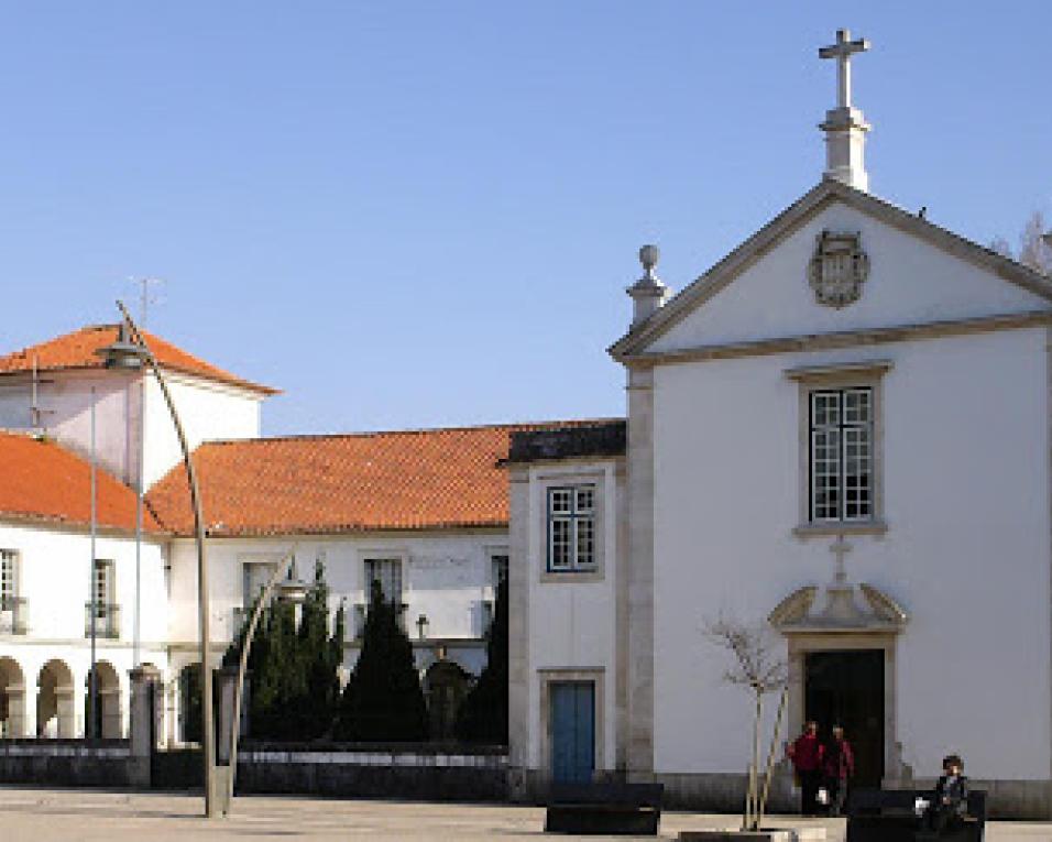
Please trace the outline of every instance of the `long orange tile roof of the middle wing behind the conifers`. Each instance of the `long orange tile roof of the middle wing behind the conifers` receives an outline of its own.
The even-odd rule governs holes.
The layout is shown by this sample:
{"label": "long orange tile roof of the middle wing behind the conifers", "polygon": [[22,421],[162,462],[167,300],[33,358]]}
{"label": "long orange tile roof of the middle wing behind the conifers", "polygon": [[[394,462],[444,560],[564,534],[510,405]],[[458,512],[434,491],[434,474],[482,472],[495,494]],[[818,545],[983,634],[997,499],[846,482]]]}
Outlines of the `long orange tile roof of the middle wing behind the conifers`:
{"label": "long orange tile roof of the middle wing behind the conifers", "polygon": [[[503,527],[511,434],[594,422],[213,441],[194,452],[210,535]],[[190,534],[182,466],[147,493],[161,523]]]}

